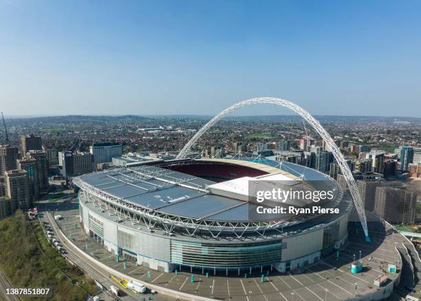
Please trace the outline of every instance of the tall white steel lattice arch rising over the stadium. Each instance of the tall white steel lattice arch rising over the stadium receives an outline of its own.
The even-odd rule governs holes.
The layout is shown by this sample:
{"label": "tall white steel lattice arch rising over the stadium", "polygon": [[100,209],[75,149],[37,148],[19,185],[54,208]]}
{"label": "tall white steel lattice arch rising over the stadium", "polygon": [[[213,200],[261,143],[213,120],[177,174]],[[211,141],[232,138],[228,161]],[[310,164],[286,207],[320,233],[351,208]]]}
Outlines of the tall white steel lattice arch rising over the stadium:
{"label": "tall white steel lattice arch rising over the stadium", "polygon": [[252,104],[276,104],[278,106],[283,106],[285,108],[289,108],[290,110],[296,112],[298,115],[303,117],[316,132],[322,137],[323,141],[325,141],[328,149],[334,154],[334,158],[338,162],[338,165],[341,167],[341,171],[343,173],[343,176],[345,176],[345,181],[347,183],[347,186],[349,187],[349,191],[352,195],[352,200],[354,200],[354,206],[358,212],[358,217],[360,217],[361,226],[363,226],[365,239],[366,241],[370,241],[368,236],[368,230],[367,230],[367,219],[365,217],[365,211],[364,211],[364,205],[363,201],[361,200],[360,193],[357,189],[356,182],[354,180],[354,177],[352,176],[352,172],[349,169],[347,162],[345,161],[345,158],[343,158],[343,155],[341,151],[339,150],[338,146],[334,143],[332,137],[329,133],[326,132],[326,130],[321,126],[319,121],[314,119],[312,115],[310,115],[306,110],[301,108],[300,106],[297,106],[296,104],[292,103],[291,101],[285,100],[285,99],[279,99],[275,97],[258,97],[258,98],[252,98],[247,99],[244,101],[240,101],[237,104],[234,104],[233,106],[230,106],[229,108],[226,108],[222,112],[220,112],[218,115],[213,117],[213,119],[210,119],[208,123],[206,123],[196,134],[193,136],[190,141],[183,147],[181,152],[177,155],[177,159],[184,158],[187,154],[187,152],[191,149],[191,147],[196,143],[196,141],[202,136],[214,123],[217,123],[219,119],[222,119],[225,115],[228,115],[230,112],[233,112],[239,108],[242,108],[244,106],[250,106]]}

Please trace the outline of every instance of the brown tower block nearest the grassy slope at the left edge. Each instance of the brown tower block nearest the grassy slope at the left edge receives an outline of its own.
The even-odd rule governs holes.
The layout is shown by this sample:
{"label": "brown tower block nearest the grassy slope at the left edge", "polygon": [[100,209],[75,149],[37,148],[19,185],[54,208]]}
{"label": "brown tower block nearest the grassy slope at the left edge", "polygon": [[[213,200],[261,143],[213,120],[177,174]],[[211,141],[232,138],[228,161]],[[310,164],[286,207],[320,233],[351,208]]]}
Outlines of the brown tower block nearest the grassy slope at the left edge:
{"label": "brown tower block nearest the grassy slope at the left edge", "polygon": [[30,208],[30,191],[28,173],[25,170],[14,169],[6,171],[6,195],[10,197],[11,213],[18,208],[28,210]]}

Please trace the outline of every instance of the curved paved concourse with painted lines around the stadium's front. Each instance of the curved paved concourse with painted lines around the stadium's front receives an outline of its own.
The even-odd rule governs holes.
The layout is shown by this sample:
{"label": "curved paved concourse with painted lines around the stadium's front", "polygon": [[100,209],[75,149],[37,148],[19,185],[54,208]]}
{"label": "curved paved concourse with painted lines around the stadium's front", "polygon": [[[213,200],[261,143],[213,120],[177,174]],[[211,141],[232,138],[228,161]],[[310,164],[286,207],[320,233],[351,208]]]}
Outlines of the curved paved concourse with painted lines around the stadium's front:
{"label": "curved paved concourse with painted lines around the stadium's front", "polygon": [[[230,272],[228,277],[220,274],[213,276],[209,272],[206,277],[206,272],[201,274],[200,270],[194,271],[192,282],[190,270],[182,269],[177,274],[164,273],[122,258],[117,261],[114,254],[102,248],[100,241],[87,236],[80,227],[77,203],[62,202],[46,206],[49,206],[47,210],[63,217],[57,222],[65,235],[80,250],[101,263],[145,282],[219,300],[347,300],[356,294],[360,296],[376,290],[374,278],[383,274],[387,263],[396,263],[400,269],[395,247],[402,243],[403,237],[390,230],[385,232],[380,223],[371,223],[371,243],[366,243],[361,235],[351,234],[339,258],[332,254],[323,261],[288,274],[265,270],[263,282],[260,271],[245,278],[244,274],[235,272]],[[362,273],[352,274],[349,265],[354,254],[359,256],[360,250],[365,269]]]}

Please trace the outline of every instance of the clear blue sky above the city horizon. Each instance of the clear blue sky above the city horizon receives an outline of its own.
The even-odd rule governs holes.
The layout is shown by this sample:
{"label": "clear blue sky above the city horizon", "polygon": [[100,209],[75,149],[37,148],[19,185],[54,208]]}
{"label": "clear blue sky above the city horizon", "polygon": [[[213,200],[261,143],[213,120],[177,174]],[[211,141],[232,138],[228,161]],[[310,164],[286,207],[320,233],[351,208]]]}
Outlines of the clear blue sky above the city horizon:
{"label": "clear blue sky above the city horizon", "polygon": [[420,16],[418,0],[0,0],[0,110],[212,115],[273,96],[421,117]]}

